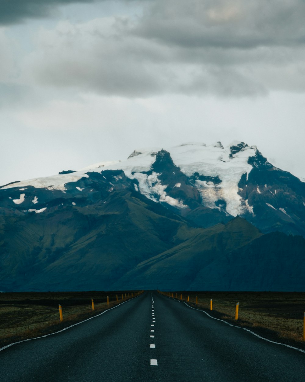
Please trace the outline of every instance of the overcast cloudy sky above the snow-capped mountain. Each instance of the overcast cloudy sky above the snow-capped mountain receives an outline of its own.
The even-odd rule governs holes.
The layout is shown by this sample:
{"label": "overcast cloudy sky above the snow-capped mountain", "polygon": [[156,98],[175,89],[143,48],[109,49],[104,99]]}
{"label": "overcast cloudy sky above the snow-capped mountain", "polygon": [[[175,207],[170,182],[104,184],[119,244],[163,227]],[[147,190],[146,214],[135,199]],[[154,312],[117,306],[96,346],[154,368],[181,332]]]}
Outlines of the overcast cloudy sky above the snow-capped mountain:
{"label": "overcast cloudy sky above the snow-capped mountain", "polygon": [[305,178],[303,0],[0,1],[0,185],[197,141]]}

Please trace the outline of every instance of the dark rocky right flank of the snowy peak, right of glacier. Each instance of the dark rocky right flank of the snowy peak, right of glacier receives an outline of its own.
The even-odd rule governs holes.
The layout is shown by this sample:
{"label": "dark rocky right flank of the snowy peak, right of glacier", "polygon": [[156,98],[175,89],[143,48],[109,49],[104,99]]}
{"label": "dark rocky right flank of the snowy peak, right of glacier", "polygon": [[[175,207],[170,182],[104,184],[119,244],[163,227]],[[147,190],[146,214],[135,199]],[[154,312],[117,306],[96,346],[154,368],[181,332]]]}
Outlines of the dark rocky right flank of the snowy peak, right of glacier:
{"label": "dark rocky right flank of the snowy peak, right of glacier", "polygon": [[305,237],[305,183],[269,163],[257,151],[248,179],[239,182],[239,195],[253,206],[243,217],[263,232],[282,231]]}

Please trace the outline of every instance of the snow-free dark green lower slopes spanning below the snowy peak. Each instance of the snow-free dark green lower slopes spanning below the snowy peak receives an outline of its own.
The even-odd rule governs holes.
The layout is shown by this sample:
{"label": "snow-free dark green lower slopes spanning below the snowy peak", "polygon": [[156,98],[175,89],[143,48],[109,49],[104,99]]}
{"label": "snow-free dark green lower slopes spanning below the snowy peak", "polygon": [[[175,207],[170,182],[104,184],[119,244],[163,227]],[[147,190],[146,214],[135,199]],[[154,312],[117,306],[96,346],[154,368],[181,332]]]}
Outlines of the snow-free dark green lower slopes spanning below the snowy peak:
{"label": "snow-free dark green lower slopes spanning below the snowy peak", "polygon": [[305,289],[301,236],[263,235],[240,217],[194,227],[131,188],[96,200],[47,214],[5,210],[0,290]]}

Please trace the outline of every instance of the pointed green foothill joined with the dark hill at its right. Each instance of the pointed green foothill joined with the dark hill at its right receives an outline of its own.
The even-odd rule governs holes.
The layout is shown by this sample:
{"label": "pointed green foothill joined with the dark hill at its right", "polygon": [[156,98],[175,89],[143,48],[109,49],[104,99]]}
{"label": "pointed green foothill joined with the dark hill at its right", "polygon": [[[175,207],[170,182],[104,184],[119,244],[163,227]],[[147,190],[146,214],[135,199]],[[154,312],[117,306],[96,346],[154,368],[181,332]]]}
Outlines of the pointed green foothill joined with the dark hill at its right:
{"label": "pointed green foothill joined with the dark hill at its right", "polygon": [[302,291],[305,239],[262,235],[244,219],[218,224],[137,265],[116,288]]}

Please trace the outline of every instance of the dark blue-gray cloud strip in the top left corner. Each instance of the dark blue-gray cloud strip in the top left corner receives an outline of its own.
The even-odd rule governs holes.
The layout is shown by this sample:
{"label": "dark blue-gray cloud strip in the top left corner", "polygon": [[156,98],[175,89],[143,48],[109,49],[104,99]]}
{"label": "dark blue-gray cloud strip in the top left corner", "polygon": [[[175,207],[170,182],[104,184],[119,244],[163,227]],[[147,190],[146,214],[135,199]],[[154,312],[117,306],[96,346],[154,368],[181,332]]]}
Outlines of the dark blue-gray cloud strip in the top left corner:
{"label": "dark blue-gray cloud strip in the top left corner", "polygon": [[95,0],[1,0],[0,24],[22,23],[27,18],[50,16],[54,7],[71,3],[92,3]]}

